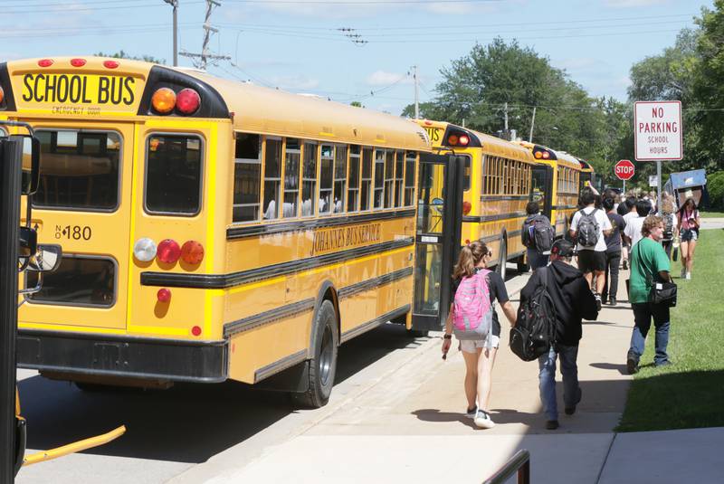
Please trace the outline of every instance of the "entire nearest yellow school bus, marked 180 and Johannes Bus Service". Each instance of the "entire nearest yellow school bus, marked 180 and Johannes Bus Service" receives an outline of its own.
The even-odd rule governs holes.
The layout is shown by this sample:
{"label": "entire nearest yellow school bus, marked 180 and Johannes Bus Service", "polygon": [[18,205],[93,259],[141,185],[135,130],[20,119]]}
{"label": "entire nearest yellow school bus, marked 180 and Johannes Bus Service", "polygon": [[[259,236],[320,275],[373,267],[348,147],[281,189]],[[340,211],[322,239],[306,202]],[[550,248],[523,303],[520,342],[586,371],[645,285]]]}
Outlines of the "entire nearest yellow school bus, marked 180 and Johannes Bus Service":
{"label": "entire nearest yellow school bus, marked 180 and Johannes Bus Service", "polygon": [[96,57],[2,63],[0,88],[0,119],[42,141],[31,222],[63,247],[20,309],[19,366],[81,388],[264,382],[320,406],[341,343],[412,327],[415,123]]}

